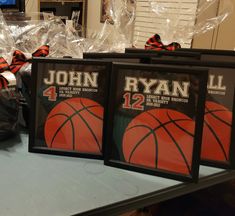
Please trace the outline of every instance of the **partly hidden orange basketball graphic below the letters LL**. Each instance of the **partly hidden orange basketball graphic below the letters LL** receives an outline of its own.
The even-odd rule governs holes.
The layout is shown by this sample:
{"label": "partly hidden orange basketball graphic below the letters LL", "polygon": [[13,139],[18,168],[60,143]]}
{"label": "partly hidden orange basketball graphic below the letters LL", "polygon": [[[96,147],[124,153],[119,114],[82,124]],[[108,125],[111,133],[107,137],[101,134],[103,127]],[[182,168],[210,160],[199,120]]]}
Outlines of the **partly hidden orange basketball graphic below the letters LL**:
{"label": "partly hidden orange basketball graphic below the letters LL", "polygon": [[232,130],[232,112],[226,107],[206,102],[204,116],[202,159],[227,162]]}

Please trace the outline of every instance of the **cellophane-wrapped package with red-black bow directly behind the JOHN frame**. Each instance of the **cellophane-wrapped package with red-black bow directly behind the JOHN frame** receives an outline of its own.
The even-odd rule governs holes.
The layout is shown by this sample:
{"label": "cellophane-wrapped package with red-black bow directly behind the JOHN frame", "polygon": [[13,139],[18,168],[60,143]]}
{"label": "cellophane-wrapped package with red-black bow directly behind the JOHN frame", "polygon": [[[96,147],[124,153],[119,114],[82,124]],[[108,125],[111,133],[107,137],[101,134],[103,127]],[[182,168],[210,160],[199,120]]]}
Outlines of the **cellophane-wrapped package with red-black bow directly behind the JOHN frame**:
{"label": "cellophane-wrapped package with red-black bow directly behind the JOHN frame", "polygon": [[[31,59],[33,57],[82,58],[75,36],[58,17],[48,13],[5,13],[9,35],[15,42],[11,70],[22,94],[23,126],[29,125]],[[20,121],[22,123],[22,121]]]}

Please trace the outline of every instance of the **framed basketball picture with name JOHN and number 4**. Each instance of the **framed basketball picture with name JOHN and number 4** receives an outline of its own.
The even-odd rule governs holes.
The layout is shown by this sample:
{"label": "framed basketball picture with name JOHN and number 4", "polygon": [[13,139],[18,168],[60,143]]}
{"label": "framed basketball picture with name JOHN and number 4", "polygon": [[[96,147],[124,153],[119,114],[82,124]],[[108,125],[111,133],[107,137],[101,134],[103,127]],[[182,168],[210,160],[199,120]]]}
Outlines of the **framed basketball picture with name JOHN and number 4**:
{"label": "framed basketball picture with name JOHN and number 4", "polygon": [[103,113],[111,64],[35,58],[29,151],[103,157]]}

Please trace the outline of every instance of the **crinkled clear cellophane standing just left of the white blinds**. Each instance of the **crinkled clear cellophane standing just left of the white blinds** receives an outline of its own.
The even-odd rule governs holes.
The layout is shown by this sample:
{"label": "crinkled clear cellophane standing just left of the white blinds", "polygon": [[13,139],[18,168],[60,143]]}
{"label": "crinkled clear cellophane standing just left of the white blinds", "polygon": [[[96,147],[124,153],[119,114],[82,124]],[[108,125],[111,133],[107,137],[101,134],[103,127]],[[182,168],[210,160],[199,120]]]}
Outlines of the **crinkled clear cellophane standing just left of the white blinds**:
{"label": "crinkled clear cellophane standing just left of the white blinds", "polygon": [[86,29],[86,37],[77,42],[83,52],[124,52],[132,46],[136,1],[111,0],[106,20],[98,31]]}

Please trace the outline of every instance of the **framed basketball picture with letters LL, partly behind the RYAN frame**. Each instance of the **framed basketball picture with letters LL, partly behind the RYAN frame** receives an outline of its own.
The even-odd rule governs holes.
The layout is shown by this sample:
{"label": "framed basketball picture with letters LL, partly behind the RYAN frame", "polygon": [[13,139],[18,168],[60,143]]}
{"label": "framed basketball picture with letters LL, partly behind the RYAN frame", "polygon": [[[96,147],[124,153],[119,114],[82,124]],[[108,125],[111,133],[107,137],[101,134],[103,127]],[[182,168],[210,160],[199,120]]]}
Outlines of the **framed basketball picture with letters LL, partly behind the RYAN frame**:
{"label": "framed basketball picture with letters LL, partly behind the RYAN frame", "polygon": [[157,65],[208,68],[201,164],[235,169],[235,63],[152,59]]}

